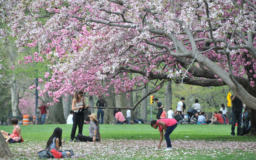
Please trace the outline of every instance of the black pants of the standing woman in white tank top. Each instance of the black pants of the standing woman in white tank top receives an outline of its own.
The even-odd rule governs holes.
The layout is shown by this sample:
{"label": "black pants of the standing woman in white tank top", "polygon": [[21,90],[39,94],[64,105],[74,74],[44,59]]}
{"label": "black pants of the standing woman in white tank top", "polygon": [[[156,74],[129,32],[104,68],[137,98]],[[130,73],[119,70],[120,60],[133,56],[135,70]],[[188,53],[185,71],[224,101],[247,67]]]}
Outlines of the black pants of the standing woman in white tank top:
{"label": "black pants of the standing woman in white tank top", "polygon": [[70,136],[70,139],[73,140],[74,137],[75,137],[75,134],[76,134],[76,128],[77,128],[77,125],[78,125],[78,133],[82,134],[83,132],[83,122],[84,122],[84,119],[83,119],[83,112],[74,112],[74,115],[73,115],[73,127],[72,127],[72,131],[71,131],[71,136]]}

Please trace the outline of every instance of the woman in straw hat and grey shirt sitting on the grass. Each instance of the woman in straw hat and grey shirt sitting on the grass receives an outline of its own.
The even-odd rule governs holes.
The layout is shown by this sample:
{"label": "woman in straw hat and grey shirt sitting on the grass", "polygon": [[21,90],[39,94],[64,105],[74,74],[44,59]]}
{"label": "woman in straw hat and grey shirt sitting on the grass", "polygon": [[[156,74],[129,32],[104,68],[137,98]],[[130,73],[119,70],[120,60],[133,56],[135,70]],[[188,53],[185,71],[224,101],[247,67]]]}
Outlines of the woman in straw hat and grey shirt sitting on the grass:
{"label": "woman in straw hat and grey shirt sitting on the grass", "polygon": [[95,113],[90,116],[89,137],[78,134],[76,137],[85,142],[100,141],[99,124]]}

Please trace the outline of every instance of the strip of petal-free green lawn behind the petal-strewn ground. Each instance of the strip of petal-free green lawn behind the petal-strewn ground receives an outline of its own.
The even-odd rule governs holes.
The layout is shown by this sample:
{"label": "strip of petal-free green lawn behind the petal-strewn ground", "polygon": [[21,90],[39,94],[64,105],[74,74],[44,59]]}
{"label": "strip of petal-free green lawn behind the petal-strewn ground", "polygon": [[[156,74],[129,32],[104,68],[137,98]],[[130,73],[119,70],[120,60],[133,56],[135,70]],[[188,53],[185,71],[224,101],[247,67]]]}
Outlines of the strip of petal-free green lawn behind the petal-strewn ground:
{"label": "strip of petal-free green lawn behind the petal-strewn ground", "polygon": [[[28,141],[47,140],[56,127],[60,127],[63,130],[63,138],[66,137],[67,140],[70,140],[71,124],[21,125],[21,135],[24,140]],[[89,134],[88,127],[89,124],[84,124],[83,126],[85,135]],[[12,133],[13,126],[0,126],[0,130]],[[231,125],[178,125],[171,134],[171,139],[256,141],[255,137],[250,136],[231,137],[230,132]],[[102,140],[158,140],[160,135],[158,130],[152,128],[150,124],[103,124],[100,125],[100,134]]]}

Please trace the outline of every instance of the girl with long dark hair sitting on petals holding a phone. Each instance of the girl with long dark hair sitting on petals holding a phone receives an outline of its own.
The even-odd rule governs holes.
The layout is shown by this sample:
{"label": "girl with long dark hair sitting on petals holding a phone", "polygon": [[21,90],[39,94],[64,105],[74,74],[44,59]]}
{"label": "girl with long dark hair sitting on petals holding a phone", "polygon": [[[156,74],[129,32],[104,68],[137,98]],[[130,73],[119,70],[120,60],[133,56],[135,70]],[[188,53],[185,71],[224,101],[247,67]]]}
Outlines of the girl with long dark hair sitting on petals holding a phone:
{"label": "girl with long dark hair sitting on petals holding a phone", "polygon": [[61,152],[62,157],[74,156],[74,153],[72,150],[70,150],[70,152],[60,150],[62,143],[65,142],[65,140],[61,140],[61,136],[62,136],[62,129],[59,127],[55,128],[55,130],[53,131],[53,134],[47,141],[46,150],[48,152],[51,152],[51,150],[55,148],[57,151]]}

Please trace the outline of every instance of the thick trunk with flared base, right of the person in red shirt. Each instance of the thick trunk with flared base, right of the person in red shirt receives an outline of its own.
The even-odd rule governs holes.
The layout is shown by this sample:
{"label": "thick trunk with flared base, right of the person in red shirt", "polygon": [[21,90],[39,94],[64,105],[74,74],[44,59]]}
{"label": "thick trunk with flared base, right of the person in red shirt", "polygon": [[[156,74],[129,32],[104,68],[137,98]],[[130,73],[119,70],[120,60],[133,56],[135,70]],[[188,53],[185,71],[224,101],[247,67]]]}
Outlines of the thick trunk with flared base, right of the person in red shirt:
{"label": "thick trunk with flared base, right of the person in red shirt", "polygon": [[[63,114],[62,97],[59,100],[58,103],[54,103],[53,106],[49,107],[49,117],[46,124],[66,124]],[[50,102],[53,102],[52,97],[50,97]]]}

